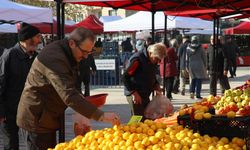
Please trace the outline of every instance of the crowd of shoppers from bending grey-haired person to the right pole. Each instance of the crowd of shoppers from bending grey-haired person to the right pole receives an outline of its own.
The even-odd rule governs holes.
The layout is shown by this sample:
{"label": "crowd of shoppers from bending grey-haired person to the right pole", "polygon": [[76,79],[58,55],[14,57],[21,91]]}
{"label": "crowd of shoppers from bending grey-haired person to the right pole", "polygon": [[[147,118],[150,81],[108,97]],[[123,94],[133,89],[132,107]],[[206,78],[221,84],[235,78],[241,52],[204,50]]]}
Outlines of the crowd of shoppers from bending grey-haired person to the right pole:
{"label": "crowd of shoppers from bending grey-haired person to the right pole", "polygon": [[[190,98],[202,99],[202,82],[207,79],[210,79],[209,94],[217,95],[219,81],[223,95],[225,90],[230,89],[228,71],[231,70],[230,77],[236,76],[239,49],[230,37],[211,36],[207,49],[203,48],[198,36],[183,36],[180,45],[176,39],[166,43],[151,43],[148,48],[142,43],[146,43],[146,40],[138,40],[138,51],[130,57],[123,76],[125,96],[133,115],[143,116],[150,94],[155,90],[161,91],[159,81],[155,78],[157,74],[163,78],[164,90],[170,100],[173,99],[172,93],[185,95],[187,83]],[[152,47],[158,47],[155,50],[157,55],[152,55]]]}

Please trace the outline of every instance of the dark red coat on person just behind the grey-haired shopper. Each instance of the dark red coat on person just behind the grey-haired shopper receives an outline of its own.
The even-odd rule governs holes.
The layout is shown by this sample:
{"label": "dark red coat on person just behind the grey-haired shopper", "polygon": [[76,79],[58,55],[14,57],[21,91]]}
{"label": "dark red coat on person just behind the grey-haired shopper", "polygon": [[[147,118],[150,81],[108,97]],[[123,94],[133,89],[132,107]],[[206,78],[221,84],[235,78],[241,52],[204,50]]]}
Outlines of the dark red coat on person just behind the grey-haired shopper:
{"label": "dark red coat on person just behind the grey-haired shopper", "polygon": [[[174,77],[177,75],[177,66],[176,61],[178,57],[176,55],[174,48],[167,49],[167,57],[166,57],[166,74],[165,77]],[[160,64],[160,74],[163,77],[164,73],[164,59],[162,59]]]}

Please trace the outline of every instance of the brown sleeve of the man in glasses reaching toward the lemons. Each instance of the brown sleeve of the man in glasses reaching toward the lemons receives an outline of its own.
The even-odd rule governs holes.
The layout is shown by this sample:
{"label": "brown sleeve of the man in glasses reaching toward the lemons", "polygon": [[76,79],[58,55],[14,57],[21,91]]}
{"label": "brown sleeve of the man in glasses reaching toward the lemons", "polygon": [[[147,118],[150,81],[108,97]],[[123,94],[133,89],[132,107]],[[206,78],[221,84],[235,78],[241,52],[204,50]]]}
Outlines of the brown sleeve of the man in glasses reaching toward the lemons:
{"label": "brown sleeve of the man in glasses reaching toward the lemons", "polygon": [[99,120],[104,112],[90,104],[79,93],[70,70],[63,63],[58,68],[61,68],[60,71],[46,69],[45,74],[65,105],[87,118]]}

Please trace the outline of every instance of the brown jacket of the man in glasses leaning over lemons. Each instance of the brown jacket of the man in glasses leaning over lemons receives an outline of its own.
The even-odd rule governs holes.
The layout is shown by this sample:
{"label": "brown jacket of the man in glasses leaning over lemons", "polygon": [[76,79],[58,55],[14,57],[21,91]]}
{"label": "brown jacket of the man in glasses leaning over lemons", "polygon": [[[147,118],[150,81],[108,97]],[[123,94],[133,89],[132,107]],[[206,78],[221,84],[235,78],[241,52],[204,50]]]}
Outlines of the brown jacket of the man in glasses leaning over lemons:
{"label": "brown jacket of the man in glasses leaning over lemons", "polygon": [[67,106],[98,120],[103,112],[87,102],[76,89],[78,73],[68,40],[47,45],[34,60],[18,105],[17,125],[36,133],[60,128]]}

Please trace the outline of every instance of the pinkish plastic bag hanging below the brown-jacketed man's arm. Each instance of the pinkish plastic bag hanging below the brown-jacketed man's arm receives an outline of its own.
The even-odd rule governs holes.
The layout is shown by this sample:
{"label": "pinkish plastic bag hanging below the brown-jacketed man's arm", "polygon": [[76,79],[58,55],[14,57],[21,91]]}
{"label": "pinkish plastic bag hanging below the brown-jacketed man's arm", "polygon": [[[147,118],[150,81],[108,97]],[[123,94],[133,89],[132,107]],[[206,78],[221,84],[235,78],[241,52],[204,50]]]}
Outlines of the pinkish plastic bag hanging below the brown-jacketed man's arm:
{"label": "pinkish plastic bag hanging below the brown-jacketed man's arm", "polygon": [[75,136],[85,135],[87,132],[91,131],[91,124],[88,118],[77,112],[73,113],[72,118]]}

